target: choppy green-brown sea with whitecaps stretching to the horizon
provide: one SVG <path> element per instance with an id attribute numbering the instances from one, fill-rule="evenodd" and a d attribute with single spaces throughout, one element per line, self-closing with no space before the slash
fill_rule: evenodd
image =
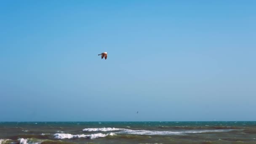
<path id="1" fill-rule="evenodd" d="M 256 144 L 256 122 L 0 122 L 0 144 Z"/>

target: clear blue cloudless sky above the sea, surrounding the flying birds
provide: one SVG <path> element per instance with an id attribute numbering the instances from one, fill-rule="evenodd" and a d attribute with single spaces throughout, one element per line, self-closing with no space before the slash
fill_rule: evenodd
<path id="1" fill-rule="evenodd" d="M 255 0 L 0 1 L 0 121 L 237 121 L 255 110 Z"/>

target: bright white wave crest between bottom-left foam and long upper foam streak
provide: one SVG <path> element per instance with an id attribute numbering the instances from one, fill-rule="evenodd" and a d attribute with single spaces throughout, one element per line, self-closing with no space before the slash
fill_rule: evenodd
<path id="1" fill-rule="evenodd" d="M 103 133 L 96 133 L 96 134 L 77 134 L 77 135 L 72 135 L 69 133 L 55 133 L 54 134 L 54 138 L 56 139 L 75 139 L 75 138 L 89 138 L 89 139 L 96 139 L 96 138 L 101 138 L 101 137 L 105 137 L 105 136 L 113 136 L 115 135 L 115 133 L 107 133 L 107 134 L 103 134 Z"/>

